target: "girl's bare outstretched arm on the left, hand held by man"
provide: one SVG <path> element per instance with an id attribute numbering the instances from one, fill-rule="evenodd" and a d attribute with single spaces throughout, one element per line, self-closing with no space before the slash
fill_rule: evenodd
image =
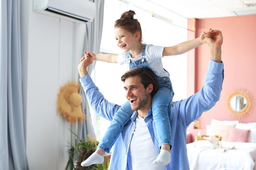
<path id="1" fill-rule="evenodd" d="M 98 60 L 102 62 L 117 63 L 117 56 L 115 54 L 95 54 L 92 52 L 84 52 L 86 57 L 90 57 L 90 60 Z"/>

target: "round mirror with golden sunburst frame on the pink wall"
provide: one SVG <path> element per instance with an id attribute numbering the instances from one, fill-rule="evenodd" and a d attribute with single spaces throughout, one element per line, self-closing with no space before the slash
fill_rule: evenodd
<path id="1" fill-rule="evenodd" d="M 252 98 L 247 91 L 235 90 L 228 96 L 227 108 L 237 117 L 246 115 L 252 108 Z"/>

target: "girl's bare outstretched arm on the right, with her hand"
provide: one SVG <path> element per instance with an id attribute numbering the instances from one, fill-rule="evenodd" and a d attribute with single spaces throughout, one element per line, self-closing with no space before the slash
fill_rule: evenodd
<path id="1" fill-rule="evenodd" d="M 211 37 L 211 32 L 210 31 L 208 31 L 207 33 L 202 32 L 200 37 L 195 38 L 194 40 L 182 42 L 175 46 L 164 47 L 163 57 L 169 56 L 169 55 L 180 55 L 180 54 L 186 53 L 194 49 L 195 47 L 198 47 L 206 43 L 205 36 L 207 36 L 208 38 Z"/>

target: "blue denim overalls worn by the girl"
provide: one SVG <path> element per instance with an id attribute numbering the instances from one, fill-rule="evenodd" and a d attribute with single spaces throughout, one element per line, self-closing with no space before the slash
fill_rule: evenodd
<path id="1" fill-rule="evenodd" d="M 129 67 L 137 68 L 137 67 L 147 67 L 148 62 L 146 61 L 146 44 L 142 47 L 141 56 L 142 59 L 138 61 L 129 60 Z M 127 57 L 130 57 L 130 52 L 127 52 Z M 150 68 L 151 69 L 151 68 Z M 158 91 L 155 93 L 152 99 L 152 113 L 156 126 L 158 143 L 159 147 L 162 144 L 171 145 L 171 126 L 169 121 L 169 104 L 173 99 L 173 88 L 171 84 L 170 77 L 159 77 L 154 73 L 157 84 Z M 104 137 L 101 139 L 98 148 L 105 152 L 110 152 L 110 149 L 114 145 L 118 135 L 123 130 L 124 125 L 130 120 L 132 113 L 134 111 L 131 110 L 130 103 L 127 101 L 118 111 L 115 113 L 108 130 L 106 131 Z"/>

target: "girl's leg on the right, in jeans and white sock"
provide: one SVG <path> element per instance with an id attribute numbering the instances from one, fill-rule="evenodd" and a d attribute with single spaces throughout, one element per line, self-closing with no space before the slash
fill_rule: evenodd
<path id="1" fill-rule="evenodd" d="M 170 89 L 160 88 L 152 100 L 153 118 L 159 140 L 160 153 L 154 163 L 167 165 L 171 161 L 171 124 L 169 120 L 169 104 L 172 101 Z"/>

